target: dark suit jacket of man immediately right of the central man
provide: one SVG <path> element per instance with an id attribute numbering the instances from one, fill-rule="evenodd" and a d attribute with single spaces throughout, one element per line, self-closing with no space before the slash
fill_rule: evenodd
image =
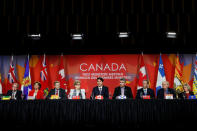
<path id="1" fill-rule="evenodd" d="M 121 87 L 116 87 L 114 90 L 113 99 L 116 99 L 116 97 L 120 95 L 121 95 Z M 127 97 L 127 99 L 133 98 L 133 94 L 130 87 L 125 86 L 124 95 Z"/>

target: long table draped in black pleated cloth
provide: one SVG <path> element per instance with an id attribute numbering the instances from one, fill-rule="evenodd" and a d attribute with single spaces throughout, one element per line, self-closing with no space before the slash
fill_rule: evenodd
<path id="1" fill-rule="evenodd" d="M 185 127 L 196 124 L 197 100 L 0 101 L 1 124 L 12 127 Z"/>

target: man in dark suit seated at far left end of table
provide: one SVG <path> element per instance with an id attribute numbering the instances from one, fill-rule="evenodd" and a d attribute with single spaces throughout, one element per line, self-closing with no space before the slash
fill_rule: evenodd
<path id="1" fill-rule="evenodd" d="M 8 90 L 6 96 L 10 96 L 12 100 L 21 100 L 22 99 L 22 91 L 18 90 L 18 83 L 12 84 L 12 90 Z"/>

